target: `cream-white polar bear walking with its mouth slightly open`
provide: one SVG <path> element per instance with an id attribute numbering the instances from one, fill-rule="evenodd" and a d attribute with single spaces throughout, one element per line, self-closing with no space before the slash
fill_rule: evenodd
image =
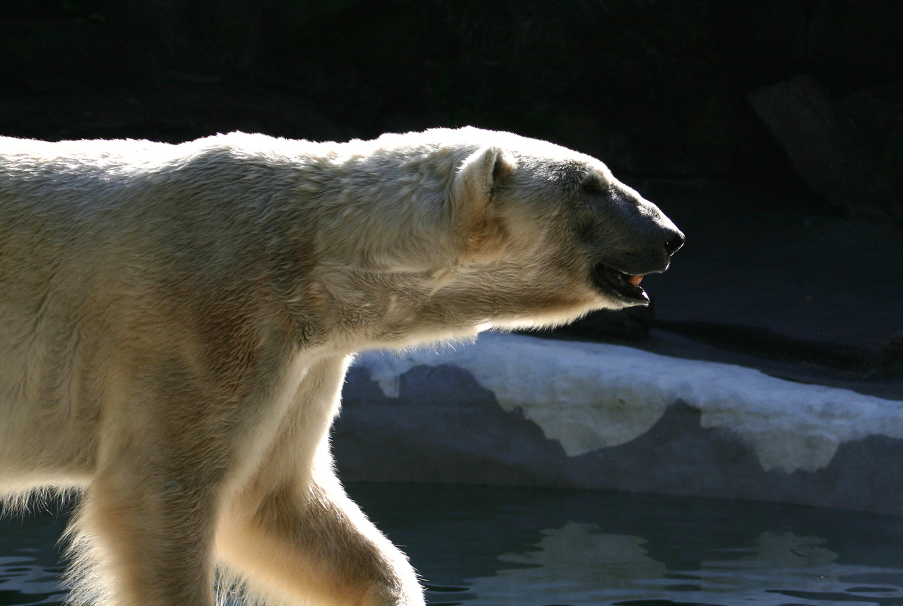
<path id="1" fill-rule="evenodd" d="M 84 491 L 85 601 L 423 604 L 329 429 L 355 352 L 647 303 L 684 235 L 604 164 L 474 128 L 0 139 L 0 486 Z"/>

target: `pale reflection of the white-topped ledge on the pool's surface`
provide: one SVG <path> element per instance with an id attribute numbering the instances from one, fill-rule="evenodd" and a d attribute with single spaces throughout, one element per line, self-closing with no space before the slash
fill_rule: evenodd
<path id="1" fill-rule="evenodd" d="M 797 537 L 792 532 L 764 532 L 755 547 L 712 549 L 714 555 L 720 553 L 725 559 L 704 561 L 692 574 L 669 574 L 664 563 L 648 556 L 641 537 L 603 534 L 595 525 L 573 522 L 544 534 L 535 551 L 498 557 L 505 563 L 534 567 L 503 568 L 489 577 L 467 579 L 470 592 L 478 596 L 468 605 L 691 602 L 778 606 L 787 603 L 787 595 L 804 598 L 798 601 L 801 604 L 821 604 L 859 601 L 856 593 L 895 595 L 897 603 L 903 603 L 903 592 L 898 594 L 897 587 L 863 588 L 840 580 L 845 575 L 900 571 L 835 565 L 838 554 L 820 545 L 824 539 Z M 815 592 L 821 593 L 815 601 L 806 599 Z"/>

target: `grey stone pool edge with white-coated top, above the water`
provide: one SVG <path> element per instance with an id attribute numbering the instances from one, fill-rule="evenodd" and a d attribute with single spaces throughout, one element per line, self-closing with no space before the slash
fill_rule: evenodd
<path id="1" fill-rule="evenodd" d="M 560 486 L 903 515 L 903 401 L 612 344 L 481 335 L 362 353 L 352 480 Z"/>

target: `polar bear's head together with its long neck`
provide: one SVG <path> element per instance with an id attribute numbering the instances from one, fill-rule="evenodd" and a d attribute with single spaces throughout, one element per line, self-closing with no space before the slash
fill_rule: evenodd
<path id="1" fill-rule="evenodd" d="M 327 160 L 317 276 L 379 344 L 646 305 L 639 281 L 684 243 L 602 162 L 512 133 L 386 134 Z"/>

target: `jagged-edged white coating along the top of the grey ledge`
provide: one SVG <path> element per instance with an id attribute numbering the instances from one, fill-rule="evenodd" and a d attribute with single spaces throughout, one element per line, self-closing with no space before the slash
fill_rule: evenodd
<path id="1" fill-rule="evenodd" d="M 442 364 L 470 372 L 508 412 L 522 409 L 569 456 L 642 436 L 677 400 L 702 411 L 703 427 L 739 435 L 766 471 L 813 472 L 844 442 L 903 438 L 903 401 L 619 345 L 489 333 L 473 344 L 370 352 L 357 361 L 392 398 L 402 374 Z"/>

